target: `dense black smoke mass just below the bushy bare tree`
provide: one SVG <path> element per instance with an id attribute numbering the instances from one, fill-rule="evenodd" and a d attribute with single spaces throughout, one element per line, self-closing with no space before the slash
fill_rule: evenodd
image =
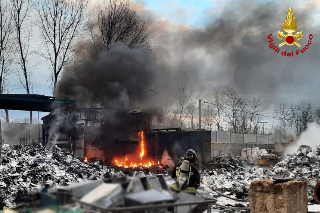
<path id="1" fill-rule="evenodd" d="M 78 61 L 64 70 L 59 97 L 78 101 L 81 107 L 133 109 L 144 106 L 153 95 L 158 66 L 152 54 L 142 49 L 115 45 L 99 52 L 85 46 Z"/>

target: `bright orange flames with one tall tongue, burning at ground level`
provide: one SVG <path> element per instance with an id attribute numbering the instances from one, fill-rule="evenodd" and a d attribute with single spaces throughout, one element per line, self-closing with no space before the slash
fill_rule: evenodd
<path id="1" fill-rule="evenodd" d="M 139 157 L 137 158 L 138 160 L 130 160 L 127 156 L 122 159 L 116 157 L 113 159 L 114 165 L 123 168 L 150 168 L 151 166 L 155 165 L 154 161 L 152 160 L 144 160 L 144 156 L 146 155 L 144 132 L 141 131 L 138 133 L 138 135 L 140 137 L 140 153 Z"/>

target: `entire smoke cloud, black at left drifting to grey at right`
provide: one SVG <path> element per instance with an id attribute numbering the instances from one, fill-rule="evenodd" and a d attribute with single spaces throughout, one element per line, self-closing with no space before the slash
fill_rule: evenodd
<path id="1" fill-rule="evenodd" d="M 292 2 L 291 2 L 292 3 Z M 295 6 L 297 5 L 297 6 Z M 64 70 L 58 95 L 76 99 L 82 106 L 94 103 L 120 108 L 170 107 L 176 100 L 176 85 L 185 83 L 188 91 L 210 98 L 216 86 L 234 87 L 247 96 L 260 95 L 265 103 L 300 100 L 317 101 L 319 30 L 314 25 L 314 9 L 305 4 L 233 2 L 220 17 L 205 27 L 170 30 L 150 11 L 140 11 L 150 22 L 152 51 L 118 45 L 95 54 L 89 45 L 77 62 Z M 281 56 L 269 48 L 282 30 L 292 6 L 298 31 L 314 38 L 310 48 L 299 56 Z M 160 23 L 160 24 L 159 24 Z M 307 95 L 306 95 L 307 94 Z M 158 111 L 158 110 L 156 110 Z"/>

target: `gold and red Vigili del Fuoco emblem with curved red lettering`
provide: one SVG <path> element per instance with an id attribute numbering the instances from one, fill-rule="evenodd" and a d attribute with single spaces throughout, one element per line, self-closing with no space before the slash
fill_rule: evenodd
<path id="1" fill-rule="evenodd" d="M 296 45 L 298 47 L 301 47 L 301 45 L 297 41 L 302 39 L 303 35 L 302 35 L 302 31 L 297 32 L 296 34 L 294 34 L 294 32 L 297 31 L 297 23 L 296 23 L 296 20 L 294 18 L 293 11 L 292 11 L 291 7 L 289 7 L 287 18 L 286 18 L 286 20 L 284 21 L 284 23 L 282 25 L 282 29 L 283 29 L 284 32 L 286 32 L 286 34 L 284 32 L 278 31 L 277 38 L 280 39 L 280 40 L 283 40 L 283 42 L 281 42 L 279 44 L 279 47 L 276 46 L 273 43 L 273 39 L 271 38 L 272 34 L 270 34 L 268 36 L 269 43 L 270 43 L 269 47 L 272 50 L 274 50 L 276 53 L 279 53 L 280 52 L 280 47 L 282 47 L 283 45 L 288 45 L 288 46 Z M 299 50 L 296 50 L 296 51 L 291 51 L 291 52 L 283 51 L 283 52 L 281 52 L 281 55 L 282 56 L 292 57 L 294 55 L 299 55 L 299 53 L 304 53 L 307 49 L 309 49 L 309 46 L 311 44 L 312 38 L 313 38 L 313 35 L 310 34 L 309 35 L 308 44 L 306 44 L 302 49 L 299 49 Z"/>

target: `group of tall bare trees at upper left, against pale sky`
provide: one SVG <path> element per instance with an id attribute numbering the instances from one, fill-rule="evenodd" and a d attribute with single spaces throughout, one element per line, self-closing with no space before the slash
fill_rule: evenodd
<path id="1" fill-rule="evenodd" d="M 108 51 L 116 42 L 129 48 L 150 47 L 147 24 L 128 0 L 105 0 L 95 10 L 88 0 L 8 0 L 0 1 L 0 93 L 9 93 L 15 74 L 26 94 L 32 94 L 33 54 L 48 62 L 53 95 L 63 68 L 74 60 L 75 43 L 82 32 Z M 90 18 L 89 18 L 90 17 Z M 39 31 L 33 35 L 32 27 Z M 41 41 L 35 53 L 31 39 Z M 9 121 L 6 111 L 6 121 Z M 32 123 L 32 112 L 30 112 Z"/>

